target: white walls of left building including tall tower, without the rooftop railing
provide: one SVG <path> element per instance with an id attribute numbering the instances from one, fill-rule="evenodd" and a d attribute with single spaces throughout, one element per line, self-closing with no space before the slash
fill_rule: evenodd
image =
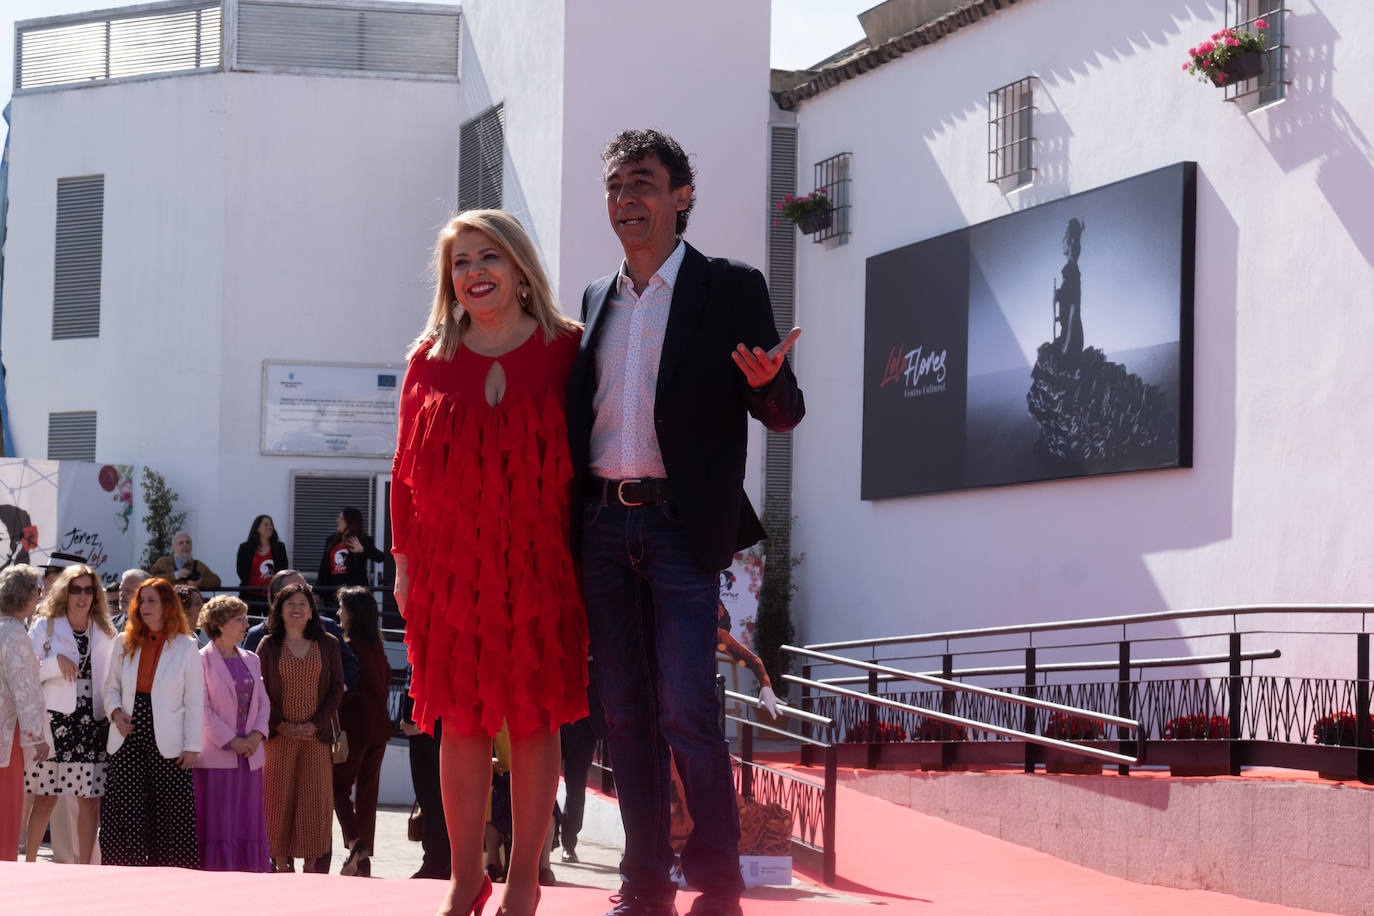
<path id="1" fill-rule="evenodd" d="M 708 0 L 669 23 L 629 0 L 470 0 L 462 22 L 458 85 L 223 73 L 18 96 L 3 341 L 21 455 L 45 455 L 49 412 L 98 411 L 98 457 L 164 472 L 231 584 L 254 515 L 289 533 L 291 471 L 385 472 L 260 455 L 261 365 L 404 360 L 456 206 L 459 126 L 497 102 L 504 206 L 570 313 L 620 260 L 599 151 L 627 126 L 694 155 L 691 240 L 763 266 L 767 4 Z M 607 29 L 632 40 L 611 48 Z M 56 179 L 89 173 L 106 176 L 102 331 L 52 341 Z"/>

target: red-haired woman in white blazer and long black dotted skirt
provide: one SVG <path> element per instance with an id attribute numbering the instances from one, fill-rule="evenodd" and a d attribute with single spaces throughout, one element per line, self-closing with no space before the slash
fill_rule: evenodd
<path id="1" fill-rule="evenodd" d="M 191 768 L 205 742 L 205 673 L 166 580 L 139 586 L 104 681 L 110 766 L 100 806 L 106 865 L 198 868 Z"/>

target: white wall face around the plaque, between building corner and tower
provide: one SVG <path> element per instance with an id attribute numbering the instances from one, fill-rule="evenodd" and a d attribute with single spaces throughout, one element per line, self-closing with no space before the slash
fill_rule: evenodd
<path id="1" fill-rule="evenodd" d="M 261 455 L 262 361 L 404 365 L 433 302 L 434 236 L 456 206 L 462 107 L 452 82 L 227 78 L 218 467 L 187 489 L 220 508 L 199 522 L 198 549 L 236 582 L 256 515 L 290 536 L 291 471 L 390 471 L 390 459 Z M 319 566 L 289 548 L 295 567 Z"/>

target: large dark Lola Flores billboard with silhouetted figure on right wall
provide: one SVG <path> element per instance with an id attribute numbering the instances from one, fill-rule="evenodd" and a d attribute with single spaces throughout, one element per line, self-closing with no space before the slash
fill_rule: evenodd
<path id="1" fill-rule="evenodd" d="M 861 497 L 1193 466 L 1197 166 L 868 258 Z"/>

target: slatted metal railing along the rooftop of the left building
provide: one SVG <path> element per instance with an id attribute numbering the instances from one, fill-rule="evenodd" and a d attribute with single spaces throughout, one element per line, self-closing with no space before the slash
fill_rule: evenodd
<path id="1" fill-rule="evenodd" d="M 376 0 L 172 0 L 26 19 L 15 93 L 225 70 L 447 80 L 459 11 Z"/>

